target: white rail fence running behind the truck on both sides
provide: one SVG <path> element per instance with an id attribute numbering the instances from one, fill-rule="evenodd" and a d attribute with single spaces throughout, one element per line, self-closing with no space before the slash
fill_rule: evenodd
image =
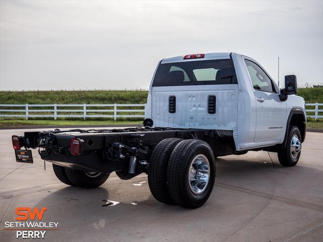
<path id="1" fill-rule="evenodd" d="M 306 103 L 305 106 L 310 106 L 311 109 L 306 109 L 306 112 L 313 112 L 314 115 L 308 115 L 307 117 L 315 118 L 317 121 L 318 118 L 323 118 L 323 115 L 318 115 L 319 112 L 323 112 L 323 103 Z M 319 109 L 321 106 L 321 109 Z M 87 117 L 114 117 L 117 120 L 118 117 L 144 117 L 145 115 L 137 114 L 118 114 L 124 112 L 139 112 L 145 113 L 146 104 L 0 104 L 0 108 L 3 107 L 19 107 L 20 109 L 0 109 L 0 117 L 53 117 L 55 120 L 58 117 L 83 117 L 84 120 Z M 37 109 L 33 108 L 36 107 Z M 46 109 L 39 109 L 39 107 L 46 107 Z M 78 109 L 61 109 L 61 107 L 78 107 Z M 103 107 L 105 109 L 92 109 L 87 107 Z M 106 107 L 110 107 L 106 109 Z M 113 107 L 113 108 L 111 108 Z M 142 109 L 120 109 L 120 107 L 142 107 Z M 314 108 L 313 108 L 314 107 Z M 8 114 L 15 112 L 15 114 Z M 39 112 L 49 112 L 51 114 L 30 114 L 30 113 L 39 113 Z M 59 114 L 62 112 L 76 112 L 81 114 Z M 110 114 L 89 114 L 89 113 L 110 113 Z M 5 114 L 4 114 L 5 113 Z M 20 113 L 20 114 L 17 114 Z M 24 114 L 22 114 L 24 113 Z"/>

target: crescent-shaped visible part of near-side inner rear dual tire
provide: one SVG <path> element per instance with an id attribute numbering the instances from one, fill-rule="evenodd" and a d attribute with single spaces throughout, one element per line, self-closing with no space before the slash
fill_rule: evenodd
<path id="1" fill-rule="evenodd" d="M 153 150 L 148 166 L 148 184 L 152 196 L 161 203 L 174 204 L 166 184 L 166 169 L 170 155 L 182 139 L 162 140 Z"/>

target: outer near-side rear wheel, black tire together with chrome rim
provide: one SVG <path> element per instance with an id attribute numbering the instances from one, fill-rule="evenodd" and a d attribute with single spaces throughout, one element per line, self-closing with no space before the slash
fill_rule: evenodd
<path id="1" fill-rule="evenodd" d="M 167 186 L 173 201 L 187 208 L 202 206 L 210 196 L 216 167 L 213 152 L 201 140 L 184 140 L 167 164 Z"/>

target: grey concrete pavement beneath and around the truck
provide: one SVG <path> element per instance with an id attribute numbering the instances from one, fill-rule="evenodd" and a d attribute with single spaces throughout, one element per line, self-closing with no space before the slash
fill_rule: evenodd
<path id="1" fill-rule="evenodd" d="M 59 222 L 44 241 L 322 241 L 323 133 L 307 133 L 295 167 L 262 151 L 218 158 L 213 192 L 194 210 L 157 202 L 145 174 L 112 174 L 93 190 L 64 185 L 35 150 L 34 164 L 15 161 L 11 135 L 22 133 L 0 131 L 1 241 L 17 240 L 3 230 L 17 207 L 47 207 L 42 221 Z"/>

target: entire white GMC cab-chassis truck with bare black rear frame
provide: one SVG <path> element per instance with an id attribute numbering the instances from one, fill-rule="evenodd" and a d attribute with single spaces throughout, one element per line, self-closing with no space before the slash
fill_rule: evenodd
<path id="1" fill-rule="evenodd" d="M 306 133 L 296 93 L 296 76 L 280 89 L 241 54 L 169 57 L 153 75 L 142 127 L 26 132 L 12 142 L 18 162 L 32 163 L 29 148 L 38 148 L 67 185 L 95 188 L 113 171 L 121 179 L 145 172 L 156 200 L 197 208 L 213 189 L 218 156 L 265 150 L 296 165 Z"/>

